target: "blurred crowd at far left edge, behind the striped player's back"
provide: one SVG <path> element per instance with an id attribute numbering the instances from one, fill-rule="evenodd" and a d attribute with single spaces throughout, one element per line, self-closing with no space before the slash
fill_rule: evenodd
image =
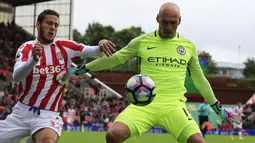
<path id="1" fill-rule="evenodd" d="M 15 22 L 0 22 L 0 119 L 11 113 L 17 102 L 17 83 L 12 81 L 14 57 L 17 48 L 32 39 Z"/>

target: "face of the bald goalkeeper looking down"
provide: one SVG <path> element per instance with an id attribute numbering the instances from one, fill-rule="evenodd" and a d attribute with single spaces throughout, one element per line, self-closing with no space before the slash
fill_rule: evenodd
<path id="1" fill-rule="evenodd" d="M 164 12 L 158 14 L 157 22 L 159 24 L 160 37 L 164 39 L 173 38 L 181 22 L 181 17 L 177 14 Z"/>

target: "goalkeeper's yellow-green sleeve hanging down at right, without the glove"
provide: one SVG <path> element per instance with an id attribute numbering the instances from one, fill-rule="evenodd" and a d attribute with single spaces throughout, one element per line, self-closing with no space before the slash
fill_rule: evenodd
<path id="1" fill-rule="evenodd" d="M 207 102 L 212 105 L 217 99 L 214 96 L 213 90 L 210 83 L 205 78 L 202 68 L 199 64 L 197 49 L 194 44 L 192 44 L 192 56 L 189 61 L 189 70 L 191 78 L 202 96 L 207 100 Z"/>

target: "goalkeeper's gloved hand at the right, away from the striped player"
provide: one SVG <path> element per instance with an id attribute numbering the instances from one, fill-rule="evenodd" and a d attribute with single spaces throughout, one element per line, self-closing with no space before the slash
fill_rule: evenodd
<path id="1" fill-rule="evenodd" d="M 226 111 L 220 104 L 219 101 L 217 101 L 215 104 L 211 105 L 214 112 L 220 116 L 220 118 L 223 120 L 223 122 L 228 123 L 230 125 L 235 122 L 236 124 L 241 124 L 241 118 L 238 115 L 235 115 L 231 112 Z"/>

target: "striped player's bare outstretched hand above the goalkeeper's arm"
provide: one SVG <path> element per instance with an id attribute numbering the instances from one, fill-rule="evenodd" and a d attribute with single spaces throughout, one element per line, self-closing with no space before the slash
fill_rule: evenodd
<path id="1" fill-rule="evenodd" d="M 100 40 L 98 42 L 99 48 L 100 48 L 100 52 L 103 52 L 106 56 L 112 56 L 112 53 L 115 52 L 115 47 L 116 45 L 110 41 L 110 40 Z"/>

